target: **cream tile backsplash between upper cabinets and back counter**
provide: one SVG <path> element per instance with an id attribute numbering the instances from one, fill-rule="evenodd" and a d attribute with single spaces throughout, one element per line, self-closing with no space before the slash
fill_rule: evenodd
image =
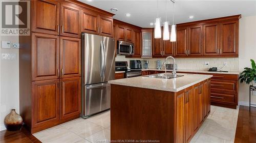
<path id="1" fill-rule="evenodd" d="M 117 55 L 116 61 L 128 61 L 130 67 L 130 60 L 148 60 L 148 68 L 156 68 L 156 61 L 160 60 L 164 63 L 164 58 L 154 59 L 140 59 L 140 58 L 125 58 L 124 55 Z M 239 71 L 239 58 L 176 58 L 178 69 L 180 70 L 208 70 L 211 67 L 223 67 L 221 70 L 224 71 Z M 167 64 L 173 63 L 171 59 L 167 60 Z M 209 63 L 209 65 L 205 65 Z M 162 68 L 164 68 L 162 66 Z"/>

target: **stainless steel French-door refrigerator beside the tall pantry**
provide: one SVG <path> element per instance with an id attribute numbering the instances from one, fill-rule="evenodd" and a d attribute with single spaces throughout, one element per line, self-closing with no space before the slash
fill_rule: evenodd
<path id="1" fill-rule="evenodd" d="M 115 79 L 115 39 L 82 34 L 82 118 L 110 109 Z"/>

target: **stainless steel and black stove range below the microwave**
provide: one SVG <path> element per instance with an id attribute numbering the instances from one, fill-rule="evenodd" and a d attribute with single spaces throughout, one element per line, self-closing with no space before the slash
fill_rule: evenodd
<path id="1" fill-rule="evenodd" d="M 126 61 L 116 62 L 116 71 L 125 71 L 125 78 L 141 76 L 141 69 L 128 69 Z"/>

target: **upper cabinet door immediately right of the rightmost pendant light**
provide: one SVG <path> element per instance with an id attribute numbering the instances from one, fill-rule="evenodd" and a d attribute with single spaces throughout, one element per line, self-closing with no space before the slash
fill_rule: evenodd
<path id="1" fill-rule="evenodd" d="M 176 56 L 187 56 L 187 27 L 177 27 Z"/>

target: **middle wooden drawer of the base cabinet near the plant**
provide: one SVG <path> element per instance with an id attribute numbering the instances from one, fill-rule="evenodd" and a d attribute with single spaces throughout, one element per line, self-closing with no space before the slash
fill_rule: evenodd
<path id="1" fill-rule="evenodd" d="M 225 91 L 237 93 L 237 81 L 232 80 L 211 80 L 210 88 L 212 91 Z"/>

